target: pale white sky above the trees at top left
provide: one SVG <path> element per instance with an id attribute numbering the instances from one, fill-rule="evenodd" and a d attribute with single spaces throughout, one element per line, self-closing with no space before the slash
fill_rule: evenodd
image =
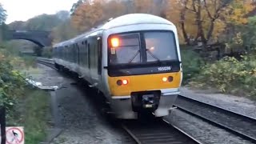
<path id="1" fill-rule="evenodd" d="M 6 24 L 26 21 L 40 14 L 55 14 L 59 10 L 70 10 L 78 0 L 0 0 L 7 11 Z"/>

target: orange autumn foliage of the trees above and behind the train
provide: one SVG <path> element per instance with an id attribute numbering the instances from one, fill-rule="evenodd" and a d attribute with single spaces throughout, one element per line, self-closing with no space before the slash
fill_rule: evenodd
<path id="1" fill-rule="evenodd" d="M 251 0 L 80 0 L 71 22 L 86 31 L 122 14 L 155 14 L 178 26 L 181 42 L 206 45 L 218 41 L 230 24 L 246 24 L 246 14 L 254 8 Z"/>

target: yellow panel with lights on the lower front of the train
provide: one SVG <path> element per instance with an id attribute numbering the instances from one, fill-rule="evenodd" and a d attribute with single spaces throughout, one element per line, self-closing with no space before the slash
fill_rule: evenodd
<path id="1" fill-rule="evenodd" d="M 168 82 L 168 78 L 173 78 L 171 82 Z M 164 82 L 163 78 L 167 78 Z M 118 86 L 118 80 L 125 79 L 128 84 L 124 86 Z M 109 85 L 111 96 L 122 97 L 130 96 L 135 91 L 148 91 L 148 90 L 161 90 L 162 94 L 168 93 L 168 90 L 178 92 L 180 87 L 181 73 L 164 73 L 164 74 L 144 74 L 133 75 L 126 77 L 109 77 Z"/>

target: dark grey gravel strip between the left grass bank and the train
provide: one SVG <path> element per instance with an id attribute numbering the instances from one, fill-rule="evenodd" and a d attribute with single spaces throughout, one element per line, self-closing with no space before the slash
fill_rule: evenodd
<path id="1" fill-rule="evenodd" d="M 61 86 L 60 90 L 51 92 L 54 125 L 61 129 L 51 144 L 125 143 L 122 141 L 127 135 L 102 118 L 100 110 L 89 97 L 94 95 L 86 95 L 85 91 L 73 85 L 74 80 L 63 77 L 56 70 L 41 64 L 38 68 L 40 73 L 32 75 L 36 82 L 42 82 L 43 86 Z"/>

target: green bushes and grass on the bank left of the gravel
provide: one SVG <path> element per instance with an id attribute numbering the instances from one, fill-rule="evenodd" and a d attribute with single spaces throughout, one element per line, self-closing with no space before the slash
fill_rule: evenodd
<path id="1" fill-rule="evenodd" d="M 46 138 L 50 96 L 26 83 L 22 70 L 34 69 L 34 58 L 22 58 L 0 46 L 0 106 L 6 107 L 6 126 L 24 126 L 25 142 L 39 143 Z"/>

